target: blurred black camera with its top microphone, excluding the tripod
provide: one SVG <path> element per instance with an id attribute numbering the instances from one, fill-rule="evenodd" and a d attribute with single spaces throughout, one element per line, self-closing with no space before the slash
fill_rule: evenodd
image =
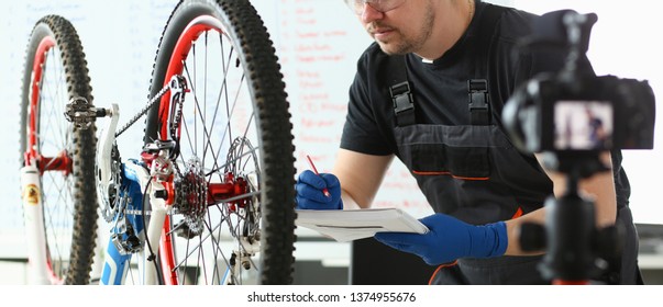
<path id="1" fill-rule="evenodd" d="M 596 20 L 593 13 L 565 10 L 543 15 L 533 25 L 523 47 L 555 46 L 566 59 L 560 71 L 537 75 L 507 101 L 502 122 L 519 149 L 653 148 L 655 99 L 648 81 L 598 77 L 583 65 Z"/>

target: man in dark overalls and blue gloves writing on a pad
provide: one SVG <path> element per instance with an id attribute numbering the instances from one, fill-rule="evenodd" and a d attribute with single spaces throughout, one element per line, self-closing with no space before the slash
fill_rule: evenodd
<path id="1" fill-rule="evenodd" d="M 541 252 L 523 251 L 518 231 L 523 223 L 544 223 L 543 202 L 564 192 L 565 178 L 518 151 L 500 121 L 520 83 L 564 61 L 512 56 L 538 16 L 480 0 L 346 2 L 375 43 L 358 60 L 333 174 L 302 172 L 298 207 L 369 207 L 396 156 L 437 214 L 421 219 L 426 235 L 382 232 L 378 241 L 440 265 L 435 284 L 550 283 L 537 270 Z M 637 283 L 621 156 L 603 158 L 614 172 L 581 189 L 594 197 L 597 227 L 618 220 L 628 230 L 620 273 L 605 282 Z"/>

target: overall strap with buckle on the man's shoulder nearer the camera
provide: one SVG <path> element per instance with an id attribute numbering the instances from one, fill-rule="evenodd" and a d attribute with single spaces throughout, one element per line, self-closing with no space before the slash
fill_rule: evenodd
<path id="1" fill-rule="evenodd" d="M 490 55 L 491 45 L 494 42 L 493 34 L 497 29 L 497 22 L 506 8 L 486 3 L 482 12 L 482 22 L 478 26 L 476 35 L 475 58 L 477 65 L 475 69 L 475 78 L 467 80 L 467 94 L 469 99 L 469 120 L 472 125 L 490 125 L 490 94 L 488 92 L 488 57 Z"/>

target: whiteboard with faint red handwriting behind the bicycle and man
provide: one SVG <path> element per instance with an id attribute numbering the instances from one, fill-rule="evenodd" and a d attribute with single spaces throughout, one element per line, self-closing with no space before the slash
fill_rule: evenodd
<path id="1" fill-rule="evenodd" d="M 0 177 L 0 195 L 4 200 L 0 203 L 0 258 L 24 257 L 25 252 L 22 243 L 24 237 L 19 193 L 19 121 L 16 118 L 23 53 L 34 23 L 41 16 L 51 13 L 60 14 L 71 21 L 87 55 L 95 103 L 97 105 L 118 103 L 123 116 L 129 116 L 146 101 L 156 46 L 176 2 L 163 0 L 1 1 L 0 42 L 3 43 L 0 46 L 0 68 L 3 73 L 0 75 L 0 101 L 2 102 L 0 112 L 5 115 L 4 121 L 0 121 L 0 128 L 4 132 L 5 150 L 0 151 L 0 167 L 5 171 Z M 615 7 L 615 4 L 604 4 L 611 1 L 598 3 L 596 0 L 489 2 L 513 4 L 539 13 L 562 8 L 578 8 L 581 11 L 587 11 L 589 8 Z M 252 0 L 252 3 L 265 21 L 283 67 L 281 72 L 285 76 L 292 113 L 296 168 L 298 172 L 308 169 L 306 155 L 310 155 L 316 160 L 319 171 L 330 171 L 339 148 L 345 120 L 347 89 L 354 77 L 356 59 L 371 39 L 356 16 L 341 0 Z M 654 10 L 640 10 L 640 13 L 651 14 L 650 18 L 642 20 L 659 23 L 658 29 L 663 27 L 660 24 L 663 22 L 655 18 Z M 625 24 L 619 20 L 619 16 L 625 15 L 636 14 L 630 14 L 623 9 L 599 11 L 599 24 L 593 32 L 590 59 L 599 72 L 647 78 L 652 80 L 652 87 L 658 90 L 656 86 L 661 84 L 658 76 L 662 71 L 660 65 L 614 60 L 618 55 L 636 50 L 639 52 L 639 57 L 656 58 L 654 52 L 660 50 L 651 45 L 655 44 L 656 39 L 651 37 L 638 39 L 637 35 L 631 35 L 639 33 L 636 26 L 642 25 L 642 22 Z M 656 27 L 656 25 L 651 26 Z M 630 46 L 619 46 L 615 37 L 628 41 Z M 608 47 L 599 48 L 601 44 Z M 660 90 L 656 93 L 660 96 Z M 658 117 L 661 118 L 661 115 Z M 121 117 L 120 124 L 125 121 L 126 117 Z M 658 147 L 663 146 L 660 126 L 656 135 Z M 142 135 L 123 135 L 120 139 L 123 158 L 128 158 L 129 152 L 139 152 L 141 139 Z M 648 180 L 649 173 L 647 173 L 652 169 L 663 170 L 660 151 L 661 149 L 658 148 L 656 151 L 627 152 L 625 166 L 633 184 L 632 207 L 636 219 L 640 221 L 663 223 L 662 204 L 653 202 L 656 200 L 654 181 Z M 649 164 L 650 162 L 652 164 Z M 375 206 L 400 207 L 416 217 L 431 213 L 416 181 L 399 161 L 395 161 L 389 169 L 375 200 Z"/>

